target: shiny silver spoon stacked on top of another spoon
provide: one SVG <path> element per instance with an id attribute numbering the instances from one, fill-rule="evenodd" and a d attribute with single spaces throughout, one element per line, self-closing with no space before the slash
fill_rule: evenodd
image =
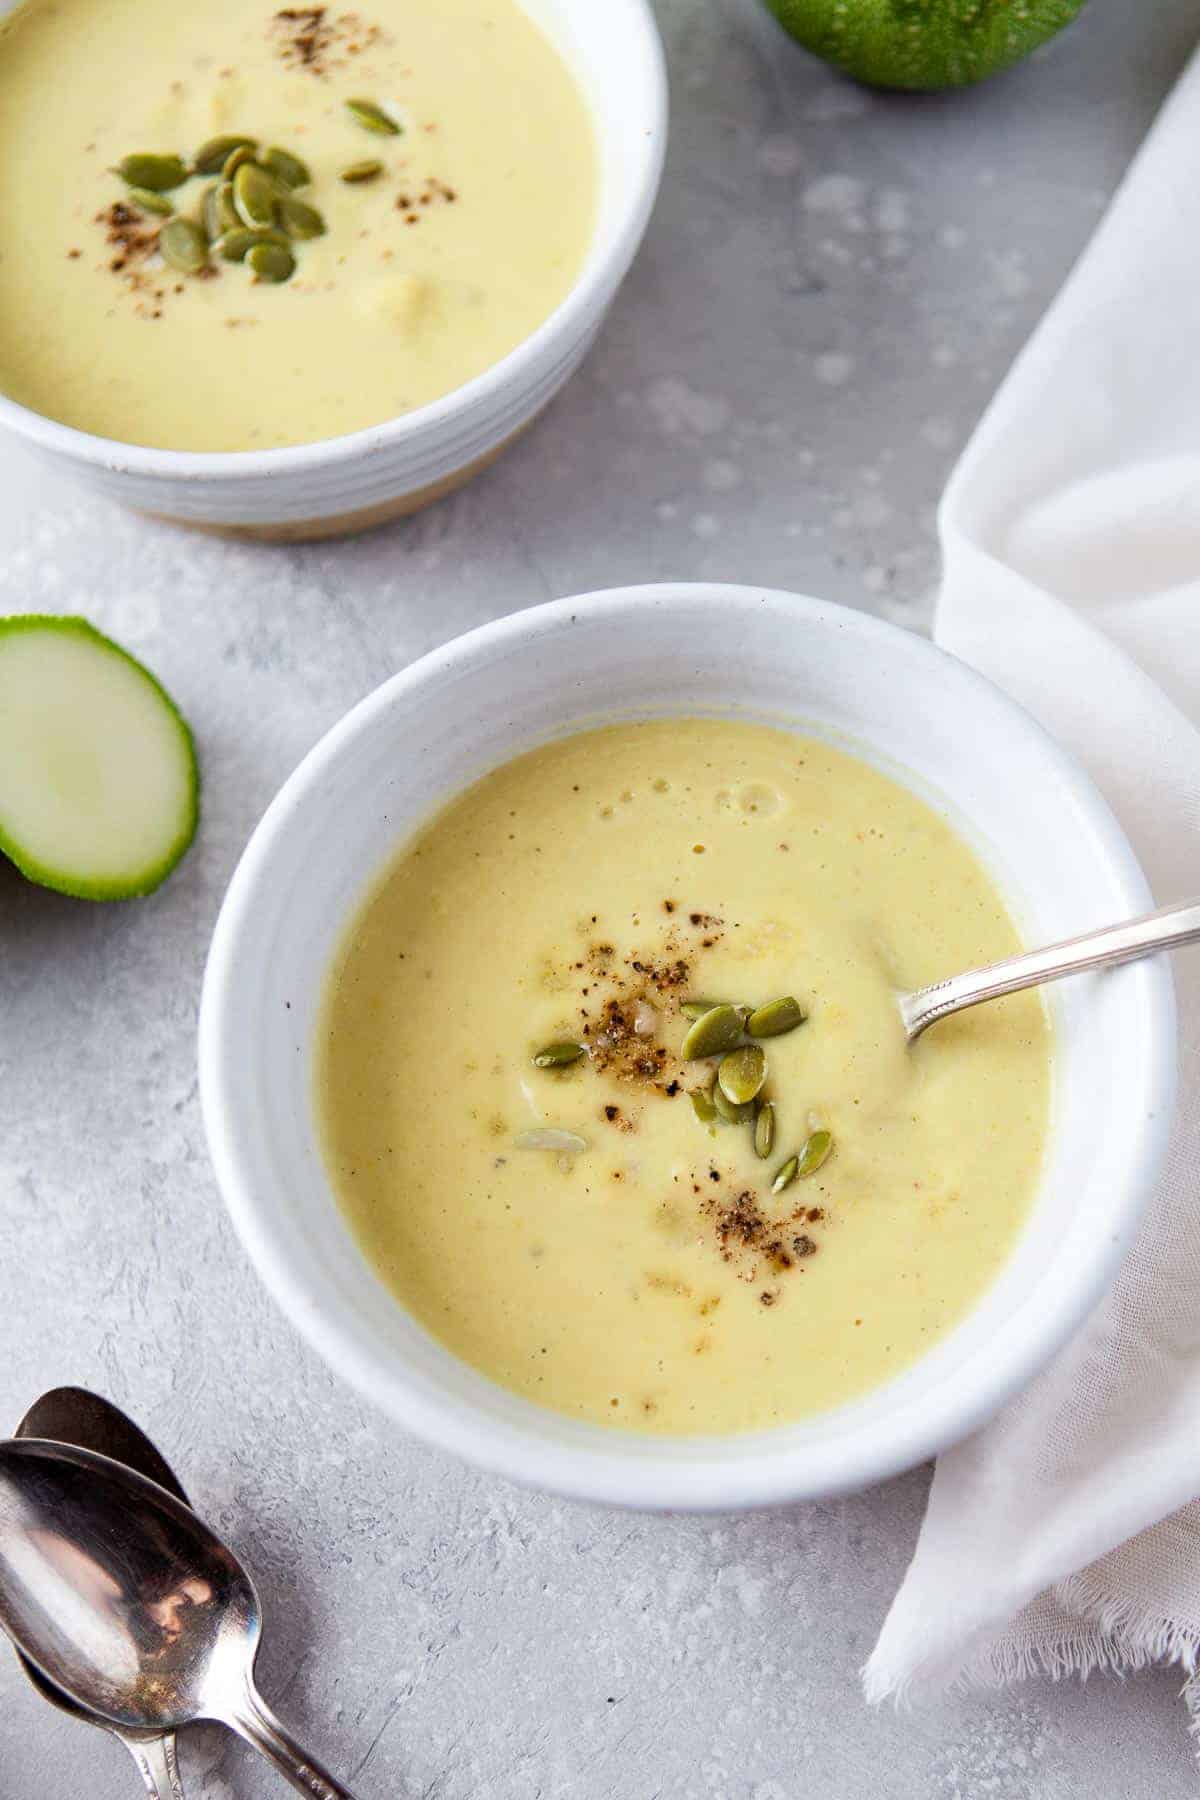
<path id="1" fill-rule="evenodd" d="M 108 1456 L 0 1442 L 0 1625 L 122 1732 L 216 1719 L 309 1800 L 354 1800 L 255 1692 L 259 1597 L 232 1550 Z"/>

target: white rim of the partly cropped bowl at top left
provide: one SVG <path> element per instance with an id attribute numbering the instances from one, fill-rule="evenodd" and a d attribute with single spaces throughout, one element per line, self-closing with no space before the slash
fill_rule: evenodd
<path id="1" fill-rule="evenodd" d="M 414 445 L 437 441 L 452 421 L 471 412 L 486 412 L 507 389 L 520 389 L 525 380 L 536 374 L 538 365 L 554 355 L 560 344 L 576 344 L 587 335 L 590 322 L 599 319 L 637 256 L 662 180 L 669 95 L 666 52 L 651 4 L 649 0 L 606 0 L 606 5 L 610 11 L 624 9 L 630 40 L 639 45 L 644 63 L 651 97 L 642 133 L 644 155 L 624 196 L 619 223 L 603 254 L 596 254 L 594 241 L 579 275 L 554 311 L 547 313 L 542 324 L 498 362 L 439 400 L 414 407 L 412 412 L 399 412 L 378 425 L 365 425 L 336 437 L 318 437 L 313 443 L 282 445 L 273 450 L 160 450 L 151 445 L 130 445 L 117 437 L 101 437 L 76 425 L 65 425 L 20 400 L 11 400 L 2 391 L 0 428 L 11 430 L 36 450 L 122 475 L 178 482 L 241 482 L 336 468 L 356 457 L 378 455 L 405 441 Z M 13 9 L 0 5 L 0 22 Z"/>

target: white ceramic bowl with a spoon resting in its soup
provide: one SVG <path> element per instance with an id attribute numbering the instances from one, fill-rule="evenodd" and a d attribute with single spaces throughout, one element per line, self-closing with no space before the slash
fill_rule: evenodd
<path id="1" fill-rule="evenodd" d="M 205 976 L 200 1084 L 227 1204 L 306 1337 L 410 1431 L 558 1492 L 716 1508 L 894 1474 L 979 1426 L 1112 1278 L 1166 1145 L 1166 959 L 1047 988 L 1052 1130 L 1029 1224 L 973 1312 L 862 1400 L 739 1438 L 578 1424 L 466 1368 L 392 1300 L 333 1201 L 311 1053 L 340 932 L 394 848 L 448 796 L 547 738 L 615 718 L 790 722 L 894 772 L 977 846 L 1031 941 L 1150 904 L 1087 776 L 1020 707 L 919 637 L 815 599 L 644 587 L 471 632 L 385 682 L 286 783 L 234 875 Z"/>

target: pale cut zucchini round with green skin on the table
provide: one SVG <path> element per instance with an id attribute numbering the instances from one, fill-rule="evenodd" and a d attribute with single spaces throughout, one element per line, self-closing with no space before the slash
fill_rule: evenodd
<path id="1" fill-rule="evenodd" d="M 149 670 L 86 619 L 0 619 L 0 851 L 83 900 L 153 893 L 200 810 L 196 747 Z"/>

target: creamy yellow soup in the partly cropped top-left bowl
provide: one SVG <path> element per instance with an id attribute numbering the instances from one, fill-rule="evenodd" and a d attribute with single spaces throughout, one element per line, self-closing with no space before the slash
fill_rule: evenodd
<path id="1" fill-rule="evenodd" d="M 399 130 L 358 122 L 363 97 Z M 113 173 L 239 133 L 311 173 L 326 232 L 282 283 L 166 266 L 164 218 Z M 166 198 L 198 218 L 209 180 Z M 171 450 L 380 423 L 542 324 L 596 189 L 585 99 L 516 0 L 27 0 L 0 22 L 0 391 Z"/>

